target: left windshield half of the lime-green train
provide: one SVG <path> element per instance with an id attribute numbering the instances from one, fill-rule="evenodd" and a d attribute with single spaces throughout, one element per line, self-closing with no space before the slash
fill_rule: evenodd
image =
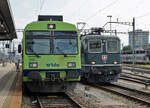
<path id="1" fill-rule="evenodd" d="M 50 54 L 49 32 L 26 32 L 27 54 Z"/>

